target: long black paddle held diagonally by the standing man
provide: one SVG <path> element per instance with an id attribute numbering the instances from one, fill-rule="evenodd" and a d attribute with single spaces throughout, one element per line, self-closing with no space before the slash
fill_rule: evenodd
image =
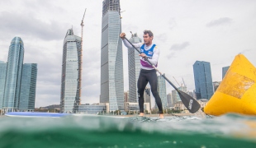
<path id="1" fill-rule="evenodd" d="M 125 37 L 125 39 L 126 39 L 126 37 Z M 126 40 L 129 42 L 130 45 L 132 45 L 132 47 L 133 47 L 134 49 L 136 49 L 135 46 L 130 43 L 130 40 L 128 40 L 128 39 L 126 39 Z M 141 52 L 140 52 L 139 49 L 136 49 L 136 50 L 137 50 L 137 52 L 139 52 L 139 53 L 141 54 Z M 149 62 L 149 64 L 150 64 L 152 67 L 154 67 L 154 69 L 155 69 L 157 72 L 159 72 L 159 70 L 148 60 L 148 58 L 145 58 L 145 60 L 146 60 L 147 62 Z M 179 97 L 182 99 L 183 104 L 185 105 L 185 107 L 187 108 L 187 110 L 188 110 L 190 113 L 196 113 L 197 110 L 200 109 L 201 106 L 200 106 L 200 104 L 197 102 L 196 99 L 192 98 L 192 96 L 188 95 L 187 93 L 183 92 L 182 90 L 178 90 L 178 88 L 177 88 L 176 86 L 174 86 L 173 83 L 172 83 L 171 81 L 169 81 L 166 76 L 162 75 L 161 72 L 159 72 L 159 74 L 160 74 L 161 76 L 163 76 L 164 79 L 165 79 L 166 81 L 168 81 L 168 83 L 169 83 L 171 86 L 173 86 L 173 88 L 174 88 L 175 90 L 178 91 Z"/>

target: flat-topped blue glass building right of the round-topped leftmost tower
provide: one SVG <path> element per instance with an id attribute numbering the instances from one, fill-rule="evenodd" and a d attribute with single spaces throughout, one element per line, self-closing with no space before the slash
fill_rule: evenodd
<path id="1" fill-rule="evenodd" d="M 20 111 L 35 110 L 37 64 L 24 63 L 21 76 Z"/>

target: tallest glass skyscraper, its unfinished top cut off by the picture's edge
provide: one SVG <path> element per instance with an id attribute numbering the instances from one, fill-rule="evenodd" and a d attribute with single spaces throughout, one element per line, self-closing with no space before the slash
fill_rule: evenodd
<path id="1" fill-rule="evenodd" d="M 124 110 L 120 1 L 102 2 L 101 98 L 110 111 Z"/>

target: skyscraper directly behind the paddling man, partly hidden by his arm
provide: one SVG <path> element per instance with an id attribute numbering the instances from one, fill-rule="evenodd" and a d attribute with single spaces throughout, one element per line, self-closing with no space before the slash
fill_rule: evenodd
<path id="1" fill-rule="evenodd" d="M 130 43 L 141 43 L 137 34 L 132 35 Z M 128 49 L 129 102 L 138 102 L 137 81 L 140 75 L 140 56 L 135 49 Z M 149 92 L 150 94 L 150 92 Z"/>

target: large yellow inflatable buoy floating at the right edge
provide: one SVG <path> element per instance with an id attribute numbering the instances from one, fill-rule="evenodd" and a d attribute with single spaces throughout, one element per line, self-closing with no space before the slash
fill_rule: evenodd
<path id="1" fill-rule="evenodd" d="M 256 115 L 256 68 L 243 54 L 235 56 L 220 86 L 204 108 L 211 115 Z"/>

